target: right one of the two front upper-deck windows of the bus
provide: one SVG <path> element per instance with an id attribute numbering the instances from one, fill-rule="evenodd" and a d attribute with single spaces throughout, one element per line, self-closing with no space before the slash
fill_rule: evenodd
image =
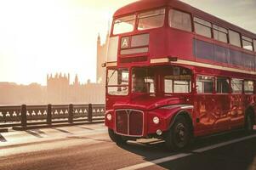
<path id="1" fill-rule="evenodd" d="M 165 9 L 156 9 L 139 14 L 138 30 L 148 30 L 162 27 L 164 24 Z"/>

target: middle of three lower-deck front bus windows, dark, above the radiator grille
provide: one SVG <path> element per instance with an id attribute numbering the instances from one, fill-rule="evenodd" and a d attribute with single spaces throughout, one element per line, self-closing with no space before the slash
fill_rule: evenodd
<path id="1" fill-rule="evenodd" d="M 149 69 L 134 68 L 132 82 L 133 93 L 155 93 L 155 78 Z"/>

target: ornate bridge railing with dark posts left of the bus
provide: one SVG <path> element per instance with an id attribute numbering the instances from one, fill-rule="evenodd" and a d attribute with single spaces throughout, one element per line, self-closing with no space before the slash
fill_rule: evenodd
<path id="1" fill-rule="evenodd" d="M 0 127 L 103 121 L 104 115 L 103 104 L 0 106 Z"/>

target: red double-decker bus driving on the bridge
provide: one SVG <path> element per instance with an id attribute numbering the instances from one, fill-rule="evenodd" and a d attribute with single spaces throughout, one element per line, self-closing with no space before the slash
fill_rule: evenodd
<path id="1" fill-rule="evenodd" d="M 176 0 L 140 0 L 113 16 L 105 125 L 117 144 L 191 138 L 255 124 L 256 35 Z"/>

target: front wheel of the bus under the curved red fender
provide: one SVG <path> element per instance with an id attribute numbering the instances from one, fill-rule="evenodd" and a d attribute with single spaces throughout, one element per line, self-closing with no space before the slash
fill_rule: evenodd
<path id="1" fill-rule="evenodd" d="M 168 150 L 184 149 L 191 140 L 191 131 L 185 116 L 178 116 L 174 125 L 166 133 L 165 144 Z"/>

